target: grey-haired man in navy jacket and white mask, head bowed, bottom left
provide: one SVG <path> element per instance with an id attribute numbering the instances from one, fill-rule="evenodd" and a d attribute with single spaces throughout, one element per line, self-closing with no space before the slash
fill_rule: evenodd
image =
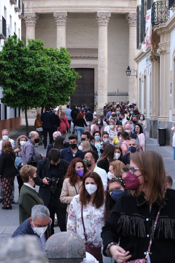
<path id="1" fill-rule="evenodd" d="M 19 235 L 35 235 L 38 237 L 42 250 L 45 250 L 46 241 L 51 236 L 50 212 L 44 205 L 34 205 L 31 217 L 26 219 L 13 233 L 12 237 Z"/>

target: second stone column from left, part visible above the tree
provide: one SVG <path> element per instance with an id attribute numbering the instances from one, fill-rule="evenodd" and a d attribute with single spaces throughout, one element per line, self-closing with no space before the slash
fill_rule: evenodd
<path id="1" fill-rule="evenodd" d="M 66 47 L 67 12 L 53 13 L 57 24 L 57 48 Z"/>

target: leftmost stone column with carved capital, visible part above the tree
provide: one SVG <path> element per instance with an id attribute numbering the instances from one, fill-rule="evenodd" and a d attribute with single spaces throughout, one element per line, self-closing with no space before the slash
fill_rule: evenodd
<path id="1" fill-rule="evenodd" d="M 26 46 L 28 45 L 28 39 L 35 39 L 35 25 L 39 15 L 36 13 L 25 13 L 24 20 L 26 25 Z"/>

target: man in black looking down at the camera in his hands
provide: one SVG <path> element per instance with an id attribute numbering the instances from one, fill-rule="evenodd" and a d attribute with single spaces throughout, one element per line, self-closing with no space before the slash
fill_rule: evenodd
<path id="1" fill-rule="evenodd" d="M 51 149 L 48 158 L 41 160 L 37 165 L 37 174 L 40 177 L 38 185 L 39 194 L 50 211 L 52 219 L 51 234 L 54 234 L 55 212 L 58 226 L 61 231 L 66 231 L 67 204 L 60 202 L 60 194 L 69 162 L 61 159 L 61 153 L 57 149 Z M 49 180 L 50 179 L 50 180 Z"/>

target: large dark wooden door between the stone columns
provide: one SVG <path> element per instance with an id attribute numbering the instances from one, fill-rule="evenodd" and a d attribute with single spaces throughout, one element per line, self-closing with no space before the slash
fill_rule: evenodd
<path id="1" fill-rule="evenodd" d="M 75 71 L 82 77 L 76 80 L 76 90 L 71 95 L 71 107 L 75 104 L 77 107 L 86 104 L 94 109 L 94 68 L 75 68 Z"/>

